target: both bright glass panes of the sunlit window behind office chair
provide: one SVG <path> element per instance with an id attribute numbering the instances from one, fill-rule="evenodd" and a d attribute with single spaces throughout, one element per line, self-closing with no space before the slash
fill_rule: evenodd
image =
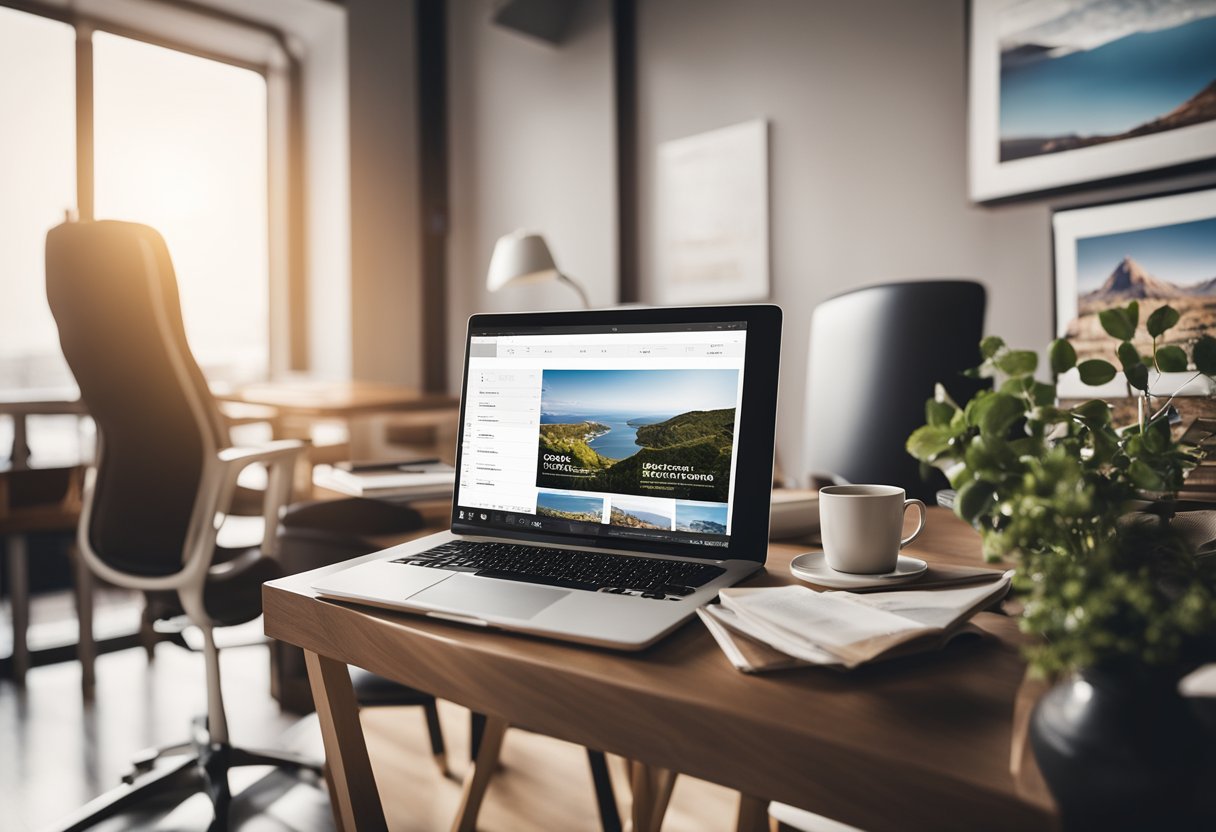
<path id="1" fill-rule="evenodd" d="M 68 212 L 157 229 L 204 373 L 213 382 L 266 377 L 271 283 L 286 280 L 282 257 L 271 263 L 281 254 L 272 229 L 286 219 L 270 210 L 266 75 L 124 36 L 128 28 L 83 27 L 91 50 L 78 49 L 68 23 L 0 7 L 0 389 L 71 382 L 43 260 L 46 231 Z M 77 88 L 78 60 L 91 60 L 91 89 Z M 79 148 L 78 97 L 92 102 L 92 141 L 85 130 Z M 77 181 L 78 153 L 91 153 L 90 182 Z M 78 204 L 78 189 L 90 186 L 94 204 Z"/>

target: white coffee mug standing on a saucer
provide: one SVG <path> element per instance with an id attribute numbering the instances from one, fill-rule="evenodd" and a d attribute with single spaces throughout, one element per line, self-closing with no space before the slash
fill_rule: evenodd
<path id="1" fill-rule="evenodd" d="M 820 534 L 828 566 L 837 572 L 878 574 L 891 572 L 900 550 L 924 529 L 925 510 L 919 500 L 906 500 L 896 485 L 828 485 L 820 489 Z M 907 538 L 903 515 L 921 510 L 921 523 Z"/>

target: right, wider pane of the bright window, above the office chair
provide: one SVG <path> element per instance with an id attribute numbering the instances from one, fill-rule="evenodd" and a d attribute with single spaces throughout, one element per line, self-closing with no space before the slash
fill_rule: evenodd
<path id="1" fill-rule="evenodd" d="M 92 55 L 95 215 L 164 236 L 208 378 L 265 377 L 265 78 L 105 32 Z"/>

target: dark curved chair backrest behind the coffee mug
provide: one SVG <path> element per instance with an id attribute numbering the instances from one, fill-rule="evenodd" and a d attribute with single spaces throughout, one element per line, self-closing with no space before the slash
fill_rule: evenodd
<path id="1" fill-rule="evenodd" d="M 961 405 L 980 388 L 962 376 L 979 364 L 986 293 L 980 283 L 925 280 L 846 292 L 815 308 L 806 394 L 806 470 L 812 477 L 900 485 L 931 500 L 905 450 L 941 382 Z"/>

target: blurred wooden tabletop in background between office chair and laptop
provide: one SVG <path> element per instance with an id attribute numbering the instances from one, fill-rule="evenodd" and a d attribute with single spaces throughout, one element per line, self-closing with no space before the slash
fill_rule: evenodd
<path id="1" fill-rule="evenodd" d="M 424 393 L 404 384 L 368 381 L 286 381 L 247 384 L 216 393 L 224 401 L 265 405 L 298 416 L 355 416 L 377 411 L 437 410 L 456 407 L 460 400 L 446 393 Z"/>

